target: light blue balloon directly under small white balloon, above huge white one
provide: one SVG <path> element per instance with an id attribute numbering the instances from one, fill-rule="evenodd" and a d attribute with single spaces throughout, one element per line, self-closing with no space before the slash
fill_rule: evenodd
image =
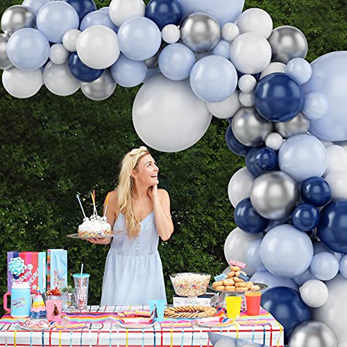
<path id="1" fill-rule="evenodd" d="M 160 53 L 158 64 L 162 74 L 174 81 L 188 78 L 195 64 L 195 55 L 192 49 L 184 44 L 169 44 Z"/>

